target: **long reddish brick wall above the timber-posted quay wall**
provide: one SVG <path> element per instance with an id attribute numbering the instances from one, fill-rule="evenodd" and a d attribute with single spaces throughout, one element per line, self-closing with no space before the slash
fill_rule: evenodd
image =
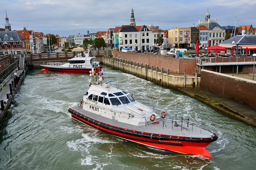
<path id="1" fill-rule="evenodd" d="M 169 68 L 170 72 L 176 74 L 184 74 L 184 70 L 186 70 L 187 74 L 195 74 L 196 70 L 196 59 L 177 59 L 162 55 L 153 55 L 152 53 L 141 54 L 121 51 L 112 51 L 112 55 L 127 61 L 148 64 L 150 67 L 153 65 L 154 68 L 156 68 L 156 66 L 161 66 L 165 71 Z"/>

